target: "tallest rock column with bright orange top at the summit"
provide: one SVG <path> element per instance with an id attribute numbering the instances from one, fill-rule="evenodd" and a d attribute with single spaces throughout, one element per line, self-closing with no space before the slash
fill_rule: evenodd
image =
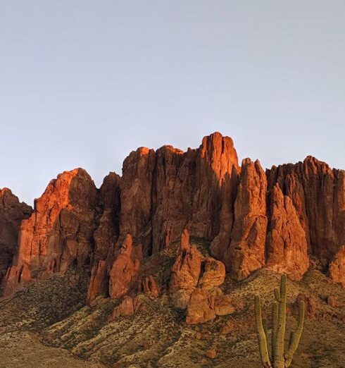
<path id="1" fill-rule="evenodd" d="M 230 137 L 218 132 L 203 137 L 196 151 L 192 235 L 213 240 L 221 232 L 230 233 L 233 181 L 237 180 L 238 171 L 237 152 Z"/>

